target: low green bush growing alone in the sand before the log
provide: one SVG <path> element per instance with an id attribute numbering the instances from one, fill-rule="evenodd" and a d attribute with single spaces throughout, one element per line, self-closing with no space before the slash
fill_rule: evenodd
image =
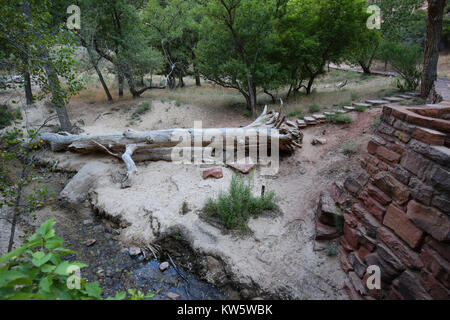
<path id="1" fill-rule="evenodd" d="M 228 192 L 221 192 L 217 199 L 209 199 L 204 212 L 210 217 L 219 218 L 227 229 L 240 228 L 245 231 L 250 217 L 258 217 L 265 210 L 276 210 L 278 200 L 273 191 L 255 197 L 250 180 L 246 182 L 236 174 L 233 175 Z"/>

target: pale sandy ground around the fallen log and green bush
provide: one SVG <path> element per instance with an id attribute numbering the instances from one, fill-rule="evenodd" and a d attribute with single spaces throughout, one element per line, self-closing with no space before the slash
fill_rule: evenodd
<path id="1" fill-rule="evenodd" d="M 129 103 L 96 105 L 95 111 L 92 105 L 78 103 L 69 111 L 85 133 L 121 132 L 129 125 Z M 239 114 L 194 105 L 177 107 L 173 102 L 161 101 L 152 105 L 152 110 L 133 128 L 191 127 L 194 120 L 200 119 L 205 120 L 205 127 L 239 126 L 249 121 Z M 39 109 L 27 111 L 30 122 L 42 119 L 44 112 Z M 343 155 L 343 144 L 352 141 L 362 151 L 379 112 L 373 109 L 355 113 L 355 121 L 350 125 L 326 124 L 306 129 L 303 148 L 282 159 L 277 176 L 261 176 L 257 168 L 253 175 L 255 193 L 262 185 L 274 190 L 281 198 L 282 214 L 251 220 L 251 235 L 224 233 L 199 217 L 206 200 L 228 188 L 232 177 L 228 168 L 223 168 L 223 179 L 203 180 L 201 173 L 207 165 L 141 163 L 133 187 L 121 189 L 124 166 L 116 159 L 48 150 L 40 152 L 39 159 L 47 164 L 57 161 L 57 169 L 64 171 L 81 170 L 81 176 L 90 167 L 89 179 L 86 174 L 80 179 L 84 184 L 81 193 L 86 192 L 87 198 L 84 206 L 92 206 L 101 215 L 120 221 L 124 227 L 120 240 L 124 245 L 145 248 L 176 235 L 186 240 L 205 264 L 202 277 L 219 287 L 233 284 L 237 295 L 247 290 L 250 297 L 345 299 L 345 275 L 337 257 L 314 251 L 314 210 L 320 191 L 357 166 L 358 156 Z M 325 137 L 328 143 L 312 146 L 310 142 L 317 136 Z M 70 193 L 71 189 L 69 185 L 65 192 Z M 183 215 L 184 201 L 189 212 Z M 322 248 L 326 245 L 317 244 Z"/>

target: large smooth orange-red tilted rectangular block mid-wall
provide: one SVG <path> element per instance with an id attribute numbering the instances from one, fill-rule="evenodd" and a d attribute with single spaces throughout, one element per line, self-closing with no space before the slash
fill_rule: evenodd
<path id="1" fill-rule="evenodd" d="M 384 216 L 383 224 L 403 239 L 411 248 L 419 246 L 423 232 L 412 223 L 405 212 L 391 204 Z"/>

